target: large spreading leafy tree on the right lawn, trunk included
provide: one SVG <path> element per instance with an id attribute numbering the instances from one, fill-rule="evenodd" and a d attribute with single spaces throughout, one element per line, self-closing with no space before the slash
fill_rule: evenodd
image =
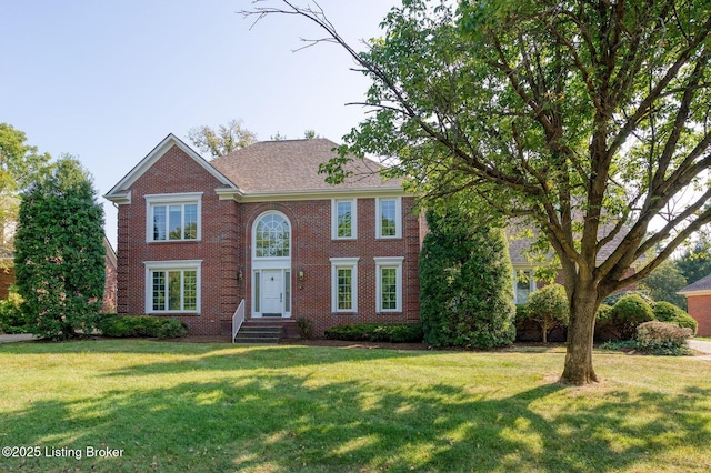
<path id="1" fill-rule="evenodd" d="M 246 14 L 317 23 L 372 81 L 328 180 L 352 155 L 393 157 L 428 208 L 447 195 L 535 228 L 570 303 L 561 381 L 597 381 L 602 300 L 711 221 L 711 1 L 408 0 L 364 52 L 322 10 L 272 3 Z"/>

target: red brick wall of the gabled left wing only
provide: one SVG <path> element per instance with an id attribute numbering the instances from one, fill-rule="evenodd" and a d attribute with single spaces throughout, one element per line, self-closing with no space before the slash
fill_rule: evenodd
<path id="1" fill-rule="evenodd" d="M 119 207 L 118 313 L 146 313 L 144 261 L 202 260 L 201 313 L 170 314 L 184 321 L 194 334 L 217 334 L 229 320 L 241 294 L 237 293 L 237 204 L 219 200 L 223 188 L 214 177 L 171 148 L 131 187 L 131 203 Z M 203 192 L 201 241 L 154 242 L 146 239 L 147 194 Z"/>

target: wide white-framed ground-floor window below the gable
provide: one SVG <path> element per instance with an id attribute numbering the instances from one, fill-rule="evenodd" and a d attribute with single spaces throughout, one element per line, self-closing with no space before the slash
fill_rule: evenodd
<path id="1" fill-rule="evenodd" d="M 201 261 L 146 262 L 146 312 L 200 312 Z"/>

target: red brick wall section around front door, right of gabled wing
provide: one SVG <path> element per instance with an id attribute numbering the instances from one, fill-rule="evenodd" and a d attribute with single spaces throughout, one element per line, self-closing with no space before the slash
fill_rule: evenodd
<path id="1" fill-rule="evenodd" d="M 331 201 L 291 201 L 246 203 L 239 205 L 244 262 L 242 293 L 247 294 L 248 318 L 251 315 L 251 231 L 263 212 L 282 212 L 291 222 L 292 319 L 310 319 L 317 332 L 343 323 L 417 322 L 420 318 L 418 254 L 420 250 L 419 215 L 413 214 L 412 198 L 402 199 L 402 239 L 375 239 L 375 199 L 358 199 L 358 238 L 331 240 Z M 358 313 L 331 312 L 330 258 L 360 258 L 358 261 Z M 402 262 L 402 312 L 375 312 L 377 256 L 404 256 Z M 303 280 L 299 280 L 303 271 Z"/>

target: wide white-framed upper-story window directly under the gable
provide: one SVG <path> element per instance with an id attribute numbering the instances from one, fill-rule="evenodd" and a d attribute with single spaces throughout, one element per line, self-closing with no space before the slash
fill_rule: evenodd
<path id="1" fill-rule="evenodd" d="M 146 195 L 147 241 L 201 239 L 202 192 Z"/>

